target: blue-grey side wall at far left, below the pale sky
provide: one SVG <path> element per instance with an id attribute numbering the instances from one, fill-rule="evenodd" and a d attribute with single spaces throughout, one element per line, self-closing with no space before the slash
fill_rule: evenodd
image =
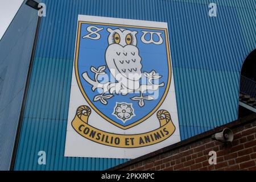
<path id="1" fill-rule="evenodd" d="M 37 19 L 23 3 L 0 41 L 0 171 L 10 168 Z"/>

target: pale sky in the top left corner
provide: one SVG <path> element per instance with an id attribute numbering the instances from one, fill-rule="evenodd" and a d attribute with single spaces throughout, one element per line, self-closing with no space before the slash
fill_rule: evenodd
<path id="1" fill-rule="evenodd" d="M 22 2 L 23 0 L 0 0 L 0 39 L 5 34 Z"/>

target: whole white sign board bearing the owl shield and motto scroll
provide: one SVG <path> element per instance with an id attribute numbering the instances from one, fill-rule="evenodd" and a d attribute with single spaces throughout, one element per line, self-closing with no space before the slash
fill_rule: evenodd
<path id="1" fill-rule="evenodd" d="M 134 158 L 179 140 L 167 23 L 79 15 L 65 156 Z"/>

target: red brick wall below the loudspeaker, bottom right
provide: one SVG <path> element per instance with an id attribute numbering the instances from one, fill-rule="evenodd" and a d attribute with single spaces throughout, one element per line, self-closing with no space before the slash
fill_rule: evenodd
<path id="1" fill-rule="evenodd" d="M 208 136 L 117 169 L 256 170 L 256 119 L 231 129 L 234 140 L 230 145 L 214 141 Z M 216 165 L 209 164 L 209 151 L 217 152 Z"/>

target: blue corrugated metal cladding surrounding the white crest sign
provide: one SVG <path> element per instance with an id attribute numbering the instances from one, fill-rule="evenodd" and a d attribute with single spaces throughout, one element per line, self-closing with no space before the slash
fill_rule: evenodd
<path id="1" fill-rule="evenodd" d="M 102 170 L 128 159 L 65 158 L 77 15 L 168 22 L 181 139 L 237 119 L 240 69 L 256 48 L 256 1 L 51 0 L 42 19 L 15 170 Z M 38 151 L 47 164 L 38 165 Z"/>

